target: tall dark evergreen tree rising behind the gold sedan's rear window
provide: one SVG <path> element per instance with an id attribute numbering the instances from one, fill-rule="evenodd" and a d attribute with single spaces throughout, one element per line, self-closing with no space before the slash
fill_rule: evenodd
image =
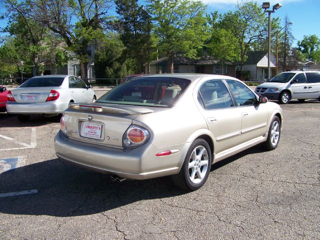
<path id="1" fill-rule="evenodd" d="M 134 59 L 137 72 L 143 72 L 143 64 L 150 60 L 152 28 L 149 13 L 137 0 L 115 0 L 119 14 L 121 40 L 126 55 Z"/>

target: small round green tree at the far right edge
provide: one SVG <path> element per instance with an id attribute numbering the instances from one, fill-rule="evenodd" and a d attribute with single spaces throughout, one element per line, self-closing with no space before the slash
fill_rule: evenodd
<path id="1" fill-rule="evenodd" d="M 320 38 L 316 35 L 303 36 L 301 41 L 297 42 L 298 51 L 309 60 L 320 62 Z"/>

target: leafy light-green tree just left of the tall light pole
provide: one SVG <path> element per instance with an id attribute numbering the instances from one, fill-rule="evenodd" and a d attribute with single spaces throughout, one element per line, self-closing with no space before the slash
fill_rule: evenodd
<path id="1" fill-rule="evenodd" d="M 256 2 L 237 3 L 237 9 L 222 16 L 220 24 L 232 32 L 240 50 L 241 68 L 246 60 L 246 53 L 250 50 L 254 40 L 267 34 L 267 19 L 262 8 Z"/>

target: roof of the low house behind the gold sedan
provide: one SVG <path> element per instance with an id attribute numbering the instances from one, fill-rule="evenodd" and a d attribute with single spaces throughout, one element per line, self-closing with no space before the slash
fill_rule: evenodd
<path id="1" fill-rule="evenodd" d="M 173 59 L 173 64 L 175 65 L 188 65 L 188 64 L 195 64 L 195 65 L 212 65 L 212 64 L 219 64 L 220 60 L 217 58 L 214 58 L 213 56 L 201 56 L 199 59 L 189 59 L 185 56 L 182 56 L 180 54 L 177 54 Z M 150 62 L 151 65 L 156 64 L 166 64 L 167 59 L 166 57 L 161 57 L 158 60 L 153 60 Z M 231 61 L 226 61 L 225 64 L 234 64 Z"/>

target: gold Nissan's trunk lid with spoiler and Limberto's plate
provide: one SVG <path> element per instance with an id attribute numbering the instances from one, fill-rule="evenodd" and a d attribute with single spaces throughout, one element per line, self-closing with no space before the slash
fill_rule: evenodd
<path id="1" fill-rule="evenodd" d="M 162 109 L 103 103 L 71 103 L 64 111 L 64 121 L 70 139 L 122 148 L 122 136 L 133 118 Z"/>

